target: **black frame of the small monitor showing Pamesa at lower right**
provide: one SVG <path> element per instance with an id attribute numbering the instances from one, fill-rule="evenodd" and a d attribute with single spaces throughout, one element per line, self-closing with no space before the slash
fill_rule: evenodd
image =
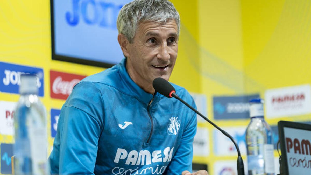
<path id="1" fill-rule="evenodd" d="M 279 140 L 281 143 L 281 168 L 282 168 L 282 175 L 290 175 L 288 169 L 288 162 L 287 162 L 287 154 L 286 154 L 286 145 L 285 145 L 285 138 L 284 138 L 284 127 L 287 128 L 294 128 L 300 130 L 309 130 L 311 131 L 311 125 L 293 121 L 279 121 L 277 123 L 278 130 L 279 130 Z"/>

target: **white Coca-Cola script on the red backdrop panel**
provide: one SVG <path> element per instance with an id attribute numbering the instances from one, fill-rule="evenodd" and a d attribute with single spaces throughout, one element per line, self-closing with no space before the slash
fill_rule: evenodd
<path id="1" fill-rule="evenodd" d="M 71 81 L 63 81 L 63 78 L 59 76 L 53 82 L 52 86 L 53 93 L 70 95 L 73 87 L 80 81 L 81 80 L 79 79 L 72 79 Z"/>

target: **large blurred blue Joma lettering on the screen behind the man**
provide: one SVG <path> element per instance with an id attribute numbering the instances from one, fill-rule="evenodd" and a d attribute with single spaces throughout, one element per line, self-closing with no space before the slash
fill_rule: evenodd
<path id="1" fill-rule="evenodd" d="M 95 0 L 72 0 L 72 12 L 66 12 L 66 22 L 70 26 L 78 25 L 80 15 L 87 25 L 116 29 L 118 13 L 123 5 Z"/>

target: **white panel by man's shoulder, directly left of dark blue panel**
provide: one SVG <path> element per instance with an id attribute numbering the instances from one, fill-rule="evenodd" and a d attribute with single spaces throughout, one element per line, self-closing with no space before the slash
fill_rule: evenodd
<path id="1" fill-rule="evenodd" d="M 204 94 L 198 94 L 191 92 L 190 95 L 192 96 L 196 106 L 197 111 L 207 117 L 207 100 Z M 207 122 L 201 116 L 197 115 L 198 122 Z"/>

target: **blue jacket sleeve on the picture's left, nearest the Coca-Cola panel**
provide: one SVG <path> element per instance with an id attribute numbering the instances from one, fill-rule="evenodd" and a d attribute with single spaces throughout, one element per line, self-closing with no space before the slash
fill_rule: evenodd
<path id="1" fill-rule="evenodd" d="M 50 155 L 52 174 L 94 174 L 103 127 L 102 105 L 100 92 L 93 84 L 75 86 L 59 116 Z"/>

